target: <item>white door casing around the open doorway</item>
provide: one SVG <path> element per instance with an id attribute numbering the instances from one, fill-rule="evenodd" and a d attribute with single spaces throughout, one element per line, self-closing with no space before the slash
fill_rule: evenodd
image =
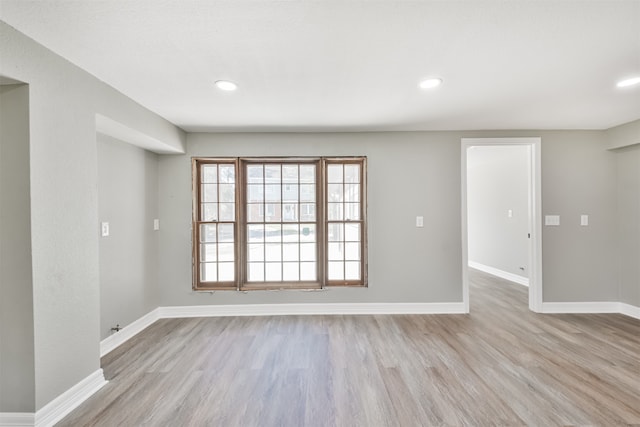
<path id="1" fill-rule="evenodd" d="M 542 312 L 542 139 L 525 138 L 462 138 L 461 150 L 461 231 L 462 231 L 462 301 L 469 312 L 469 242 L 467 236 L 467 150 L 473 146 L 525 145 L 529 147 L 529 310 Z"/>

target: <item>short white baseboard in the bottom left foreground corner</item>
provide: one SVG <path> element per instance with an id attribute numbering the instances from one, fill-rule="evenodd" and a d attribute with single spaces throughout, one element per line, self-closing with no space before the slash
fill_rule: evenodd
<path id="1" fill-rule="evenodd" d="M 98 369 L 36 412 L 35 425 L 37 427 L 53 426 L 105 384 L 107 381 L 104 379 L 102 369 Z"/>

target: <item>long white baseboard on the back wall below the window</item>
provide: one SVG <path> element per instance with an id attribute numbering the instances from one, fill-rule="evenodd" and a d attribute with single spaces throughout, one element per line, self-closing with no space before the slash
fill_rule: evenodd
<path id="1" fill-rule="evenodd" d="M 331 314 L 460 314 L 452 303 L 237 304 L 160 307 L 160 317 L 287 316 Z"/>

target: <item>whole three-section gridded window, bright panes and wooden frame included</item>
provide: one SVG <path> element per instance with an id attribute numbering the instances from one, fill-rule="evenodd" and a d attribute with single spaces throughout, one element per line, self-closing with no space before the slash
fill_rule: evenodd
<path id="1" fill-rule="evenodd" d="M 366 286 L 364 166 L 194 159 L 194 289 Z"/>

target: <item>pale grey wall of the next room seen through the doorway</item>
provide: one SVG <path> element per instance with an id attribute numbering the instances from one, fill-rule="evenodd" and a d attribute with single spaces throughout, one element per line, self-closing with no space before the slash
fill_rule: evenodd
<path id="1" fill-rule="evenodd" d="M 528 193 L 528 147 L 477 146 L 467 150 L 470 262 L 528 276 Z"/>

